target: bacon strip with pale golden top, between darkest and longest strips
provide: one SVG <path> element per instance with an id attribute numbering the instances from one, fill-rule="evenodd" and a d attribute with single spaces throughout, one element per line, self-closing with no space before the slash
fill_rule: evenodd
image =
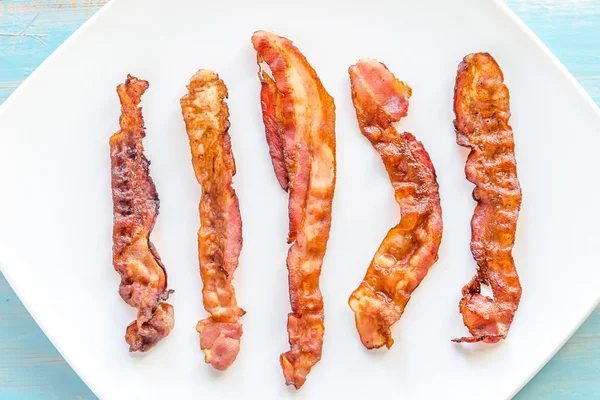
<path id="1" fill-rule="evenodd" d="M 192 164 L 202 185 L 198 231 L 204 308 L 210 317 L 196 325 L 204 358 L 217 370 L 227 369 L 240 351 L 245 314 L 232 285 L 242 250 L 242 219 L 231 186 L 235 162 L 229 137 L 227 87 L 210 70 L 199 70 L 181 98 L 181 111 L 192 150 Z"/>

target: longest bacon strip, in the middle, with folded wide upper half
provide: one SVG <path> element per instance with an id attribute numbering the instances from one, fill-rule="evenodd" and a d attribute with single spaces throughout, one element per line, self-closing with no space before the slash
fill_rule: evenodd
<path id="1" fill-rule="evenodd" d="M 287 385 L 299 389 L 323 346 L 323 298 L 319 276 L 335 187 L 335 105 L 306 58 L 284 37 L 258 31 L 252 36 L 258 62 L 273 74 L 259 74 L 267 141 L 277 179 L 289 191 L 287 258 L 292 312 L 291 350 L 280 362 Z"/>

